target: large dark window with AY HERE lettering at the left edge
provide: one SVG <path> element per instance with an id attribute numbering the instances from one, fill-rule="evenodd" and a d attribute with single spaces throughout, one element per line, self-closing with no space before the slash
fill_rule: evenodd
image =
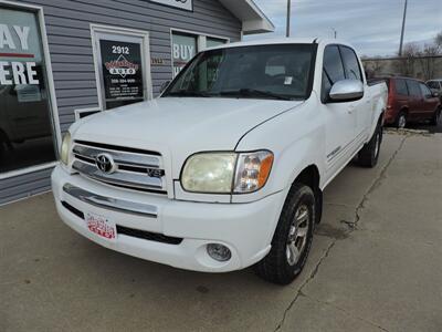
<path id="1" fill-rule="evenodd" d="M 0 7 L 0 175 L 54 162 L 51 94 L 38 13 Z"/>

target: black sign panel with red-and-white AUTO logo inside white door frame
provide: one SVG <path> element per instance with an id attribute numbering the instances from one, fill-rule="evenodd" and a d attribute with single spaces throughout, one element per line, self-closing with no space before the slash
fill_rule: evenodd
<path id="1" fill-rule="evenodd" d="M 101 40 L 99 49 L 106 100 L 143 98 L 141 44 Z"/>

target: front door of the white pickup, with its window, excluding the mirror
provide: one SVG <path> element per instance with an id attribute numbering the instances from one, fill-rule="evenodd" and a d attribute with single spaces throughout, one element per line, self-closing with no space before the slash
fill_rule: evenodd
<path id="1" fill-rule="evenodd" d="M 345 69 L 337 45 L 327 45 L 324 50 L 322 79 L 322 108 L 325 114 L 327 170 L 334 174 L 341 160 L 347 159 L 355 137 L 356 114 L 351 112 L 354 102 L 336 103 L 329 100 L 333 84 L 345 80 Z"/>

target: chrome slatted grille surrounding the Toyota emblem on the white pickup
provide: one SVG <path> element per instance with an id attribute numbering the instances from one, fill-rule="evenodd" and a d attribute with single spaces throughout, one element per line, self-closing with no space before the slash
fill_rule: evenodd
<path id="1" fill-rule="evenodd" d="M 162 157 L 159 153 L 115 145 L 75 141 L 72 168 L 95 180 L 128 189 L 166 193 Z M 115 164 L 110 173 L 97 167 L 97 156 L 106 154 Z"/>

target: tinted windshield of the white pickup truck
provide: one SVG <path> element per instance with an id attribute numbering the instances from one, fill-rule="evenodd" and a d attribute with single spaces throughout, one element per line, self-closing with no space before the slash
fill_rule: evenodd
<path id="1" fill-rule="evenodd" d="M 162 96 L 305 100 L 315 44 L 272 44 L 199 53 Z"/>

